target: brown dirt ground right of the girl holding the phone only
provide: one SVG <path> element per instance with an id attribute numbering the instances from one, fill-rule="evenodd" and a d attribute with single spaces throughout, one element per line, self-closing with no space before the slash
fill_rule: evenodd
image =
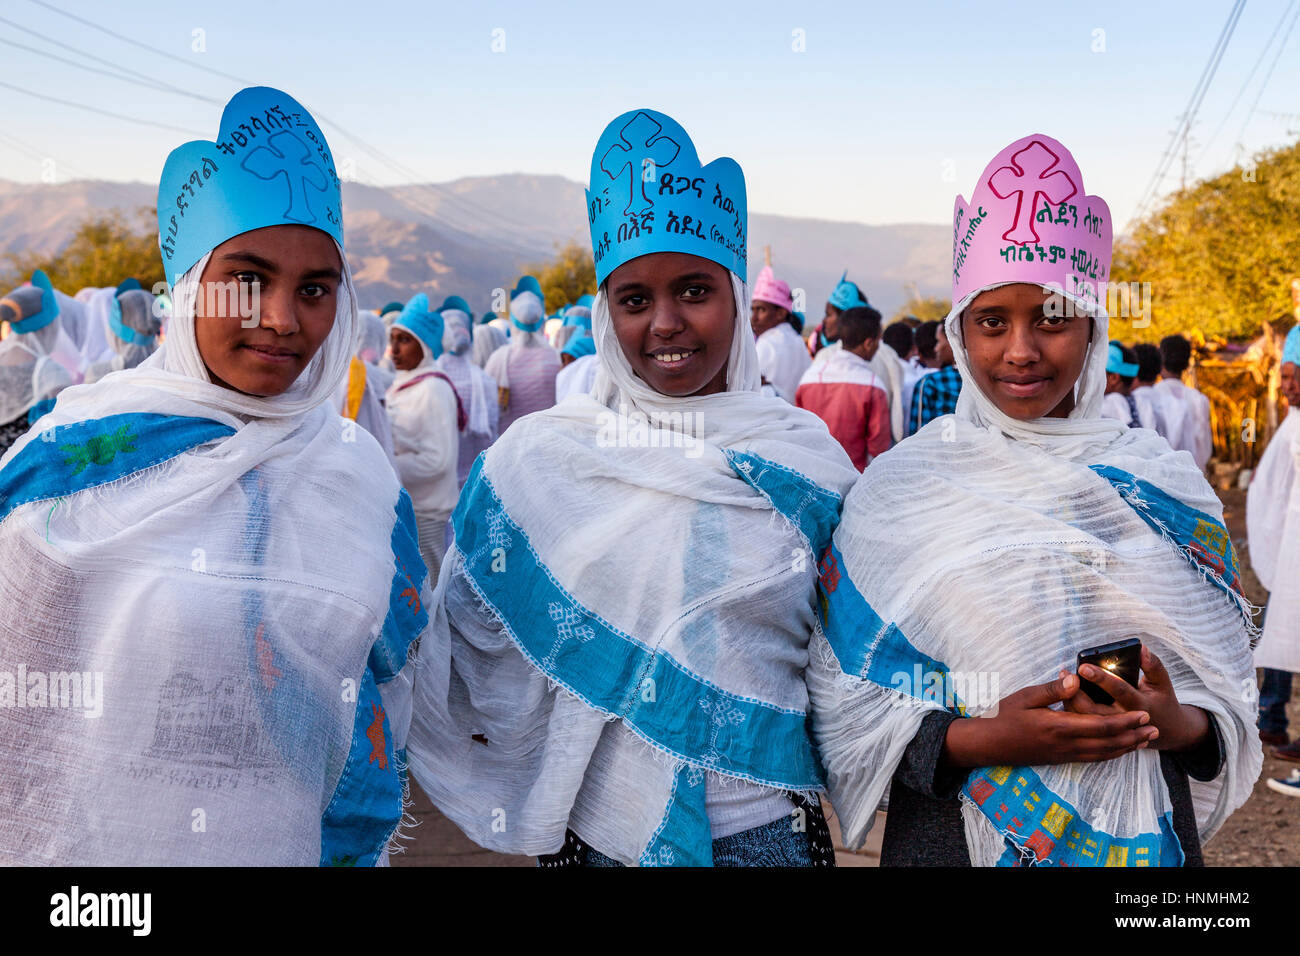
<path id="1" fill-rule="evenodd" d="M 1251 549 L 1245 540 L 1245 492 L 1219 492 L 1228 533 L 1243 564 L 1247 597 L 1262 605 L 1268 592 L 1249 570 Z M 1295 682 L 1300 689 L 1300 682 Z M 1291 735 L 1300 734 L 1300 700 L 1294 695 L 1287 708 Z M 1264 773 L 1254 784 L 1254 793 L 1205 847 L 1209 866 L 1297 866 L 1300 865 L 1300 799 L 1274 793 L 1270 777 L 1287 777 L 1300 763 L 1278 760 L 1270 747 L 1264 748 Z"/>

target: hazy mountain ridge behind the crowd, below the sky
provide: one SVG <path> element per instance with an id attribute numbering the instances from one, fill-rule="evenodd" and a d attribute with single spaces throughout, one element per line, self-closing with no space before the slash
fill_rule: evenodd
<path id="1" fill-rule="evenodd" d="M 148 208 L 156 187 L 138 182 L 78 179 L 16 183 L 0 179 L 0 252 L 55 252 L 87 216 Z M 510 287 L 524 265 L 549 259 L 558 245 L 586 241 L 584 191 L 559 176 L 489 176 L 447 183 L 393 187 L 343 183 L 348 260 L 365 307 L 406 299 L 464 295 L 476 311 L 491 291 Z M 777 276 L 803 289 L 806 308 L 820 317 L 844 269 L 885 317 L 907 298 L 948 295 L 948 226 L 870 226 L 750 213 L 750 273 L 772 247 Z"/>

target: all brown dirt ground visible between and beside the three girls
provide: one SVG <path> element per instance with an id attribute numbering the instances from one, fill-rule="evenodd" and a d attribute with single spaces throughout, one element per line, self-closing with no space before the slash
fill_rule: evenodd
<path id="1" fill-rule="evenodd" d="M 1221 492 L 1228 532 L 1238 548 L 1243 564 L 1245 592 L 1254 604 L 1262 604 L 1265 592 L 1249 570 L 1249 548 L 1245 541 L 1245 492 Z M 1296 682 L 1300 691 L 1300 680 Z M 1300 734 L 1300 701 L 1295 697 L 1288 708 L 1292 734 Z M 1234 813 L 1218 835 L 1205 847 L 1209 866 L 1297 866 L 1300 865 L 1300 799 L 1274 793 L 1268 787 L 1270 777 L 1286 777 L 1300 763 L 1280 761 L 1265 748 L 1264 773 L 1254 784 L 1254 793 L 1242 809 Z M 417 826 L 406 840 L 406 852 L 393 857 L 395 866 L 536 866 L 532 857 L 503 856 L 476 845 L 446 817 L 438 813 L 429 799 L 412 782 L 415 806 L 412 816 Z M 829 813 L 832 836 L 836 843 L 836 862 L 840 866 L 879 866 L 883 816 L 876 821 L 867 845 L 858 852 L 844 849 L 840 829 Z"/>

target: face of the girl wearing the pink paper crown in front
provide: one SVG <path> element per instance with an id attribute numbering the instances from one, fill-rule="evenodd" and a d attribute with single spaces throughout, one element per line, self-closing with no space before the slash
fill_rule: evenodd
<path id="1" fill-rule="evenodd" d="M 1092 319 L 1048 315 L 1052 295 L 1017 282 L 980 293 L 962 313 L 975 385 L 1004 415 L 1020 421 L 1066 418 L 1088 355 Z"/>

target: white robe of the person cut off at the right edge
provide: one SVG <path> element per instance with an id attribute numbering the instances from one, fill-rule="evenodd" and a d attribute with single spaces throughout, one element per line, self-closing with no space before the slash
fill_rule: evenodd
<path id="1" fill-rule="evenodd" d="M 1269 589 L 1257 667 L 1300 671 L 1300 411 L 1282 421 L 1245 496 L 1251 567 Z"/>

